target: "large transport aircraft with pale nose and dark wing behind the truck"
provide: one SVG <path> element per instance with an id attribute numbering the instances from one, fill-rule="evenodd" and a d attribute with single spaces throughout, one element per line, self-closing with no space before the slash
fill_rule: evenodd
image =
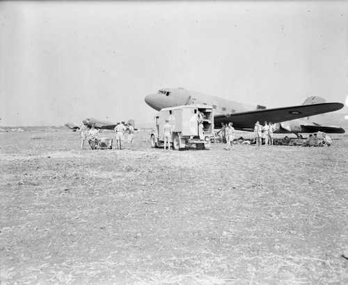
<path id="1" fill-rule="evenodd" d="M 145 102 L 157 111 L 166 107 L 181 105 L 209 105 L 214 108 L 214 124 L 217 128 L 221 126 L 221 123 L 232 122 L 235 129 L 248 131 L 253 130 L 256 121 L 260 121 L 262 124 L 265 121 L 280 123 L 297 118 L 305 118 L 337 111 L 344 107 L 344 105 L 339 102 L 316 102 L 314 104 L 313 102 L 308 102 L 306 105 L 267 109 L 261 105 L 245 105 L 233 100 L 206 95 L 196 91 L 189 91 L 184 88 L 160 89 L 155 94 L 147 95 L 145 97 Z M 303 131 L 296 130 L 294 133 L 298 132 Z M 305 130 L 305 132 L 307 132 L 307 130 Z"/>

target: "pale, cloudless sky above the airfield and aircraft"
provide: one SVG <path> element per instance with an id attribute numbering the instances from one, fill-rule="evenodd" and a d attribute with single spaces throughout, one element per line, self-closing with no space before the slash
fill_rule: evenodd
<path id="1" fill-rule="evenodd" d="M 166 87 L 345 102 L 348 1 L 0 2 L 1 125 L 149 123 Z"/>

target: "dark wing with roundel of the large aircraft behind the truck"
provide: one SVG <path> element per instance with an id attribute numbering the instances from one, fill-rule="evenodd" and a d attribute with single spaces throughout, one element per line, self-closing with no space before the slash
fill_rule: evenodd
<path id="1" fill-rule="evenodd" d="M 330 111 L 337 111 L 342 109 L 342 107 L 344 107 L 342 103 L 333 102 L 221 114 L 214 116 L 214 124 L 217 126 L 221 123 L 232 122 L 233 127 L 237 129 L 253 129 L 257 121 L 261 124 L 265 121 L 280 123 L 283 121 L 291 121 L 295 118 L 304 118 Z"/>

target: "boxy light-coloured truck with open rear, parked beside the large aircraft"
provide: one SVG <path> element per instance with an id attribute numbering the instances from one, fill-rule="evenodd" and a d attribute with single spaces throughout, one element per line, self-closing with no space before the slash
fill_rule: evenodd
<path id="1" fill-rule="evenodd" d="M 208 105 L 184 105 L 161 109 L 155 116 L 155 130 L 151 146 L 164 144 L 163 126 L 168 120 L 172 126 L 171 144 L 175 150 L 195 145 L 196 149 L 209 148 L 214 132 L 213 108 Z"/>

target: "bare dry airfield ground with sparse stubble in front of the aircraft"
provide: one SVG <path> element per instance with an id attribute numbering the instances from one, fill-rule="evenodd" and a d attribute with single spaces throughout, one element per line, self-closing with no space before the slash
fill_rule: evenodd
<path id="1" fill-rule="evenodd" d="M 348 137 L 330 148 L 79 150 L 0 133 L 1 284 L 348 284 Z"/>

